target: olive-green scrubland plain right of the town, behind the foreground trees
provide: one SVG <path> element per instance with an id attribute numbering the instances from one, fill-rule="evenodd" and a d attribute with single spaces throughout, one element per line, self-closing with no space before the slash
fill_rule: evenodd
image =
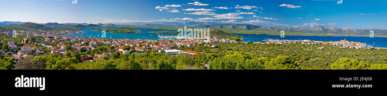
<path id="1" fill-rule="evenodd" d="M 214 53 L 219 57 L 226 57 L 228 51 L 250 53 L 255 57 L 277 58 L 278 56 L 284 56 L 294 60 L 298 65 L 297 69 L 330 69 L 330 65 L 340 58 L 359 60 L 359 62 L 368 63 L 371 67 L 372 65 L 375 67 L 383 67 L 383 65 L 374 64 L 387 63 L 387 55 L 385 54 L 387 50 L 344 49 L 330 45 L 304 44 L 289 44 L 284 46 L 277 44 L 217 43 L 216 45 L 217 48 L 196 46 L 176 49 L 192 50 L 207 54 Z M 325 48 L 322 50 L 317 49 L 320 46 L 324 46 Z"/>

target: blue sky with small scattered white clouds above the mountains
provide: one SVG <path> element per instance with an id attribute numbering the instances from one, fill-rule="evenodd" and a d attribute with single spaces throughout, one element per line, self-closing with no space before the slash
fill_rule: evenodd
<path id="1" fill-rule="evenodd" d="M 387 29 L 387 0 L 1 0 L 0 21 L 197 21 Z"/>

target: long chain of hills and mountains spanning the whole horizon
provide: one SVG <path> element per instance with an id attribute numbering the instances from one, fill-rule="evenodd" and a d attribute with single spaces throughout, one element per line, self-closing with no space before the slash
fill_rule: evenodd
<path id="1" fill-rule="evenodd" d="M 1 24 L 8 24 L 7 26 L 4 26 L 3 28 L 10 29 L 11 26 L 15 26 L 17 24 L 27 24 L 27 25 L 34 25 L 34 29 L 37 27 L 45 26 L 64 26 L 64 27 L 70 27 L 70 28 L 91 28 L 91 27 L 134 27 L 129 25 L 117 25 L 117 24 L 87 24 L 87 23 L 62 23 L 58 24 L 57 22 L 53 23 L 46 23 L 46 24 L 40 24 L 41 26 L 36 25 L 36 23 L 31 24 L 32 22 L 10 22 L 10 21 L 4 21 L 0 22 Z M 196 25 L 196 26 L 189 26 L 194 28 L 209 28 L 209 29 L 234 29 L 234 30 L 246 30 L 246 31 L 285 31 L 289 33 L 309 33 L 309 34 L 343 34 L 343 35 L 368 35 L 370 34 L 370 31 L 374 31 L 375 35 L 387 35 L 386 29 L 354 29 L 351 27 L 345 27 L 345 28 L 339 28 L 339 27 L 329 27 L 329 26 L 313 26 L 313 27 L 306 27 L 306 26 L 299 26 L 299 27 L 265 27 L 265 26 L 259 26 L 259 25 L 252 25 L 252 24 L 207 24 L 207 22 L 153 22 L 153 24 L 146 23 L 142 25 L 138 25 L 135 27 L 147 27 L 147 28 L 176 28 L 176 27 L 184 27 L 182 25 L 192 25 L 192 24 L 202 24 L 202 25 Z M 24 25 L 21 25 L 19 27 L 30 29 Z M 156 29 L 159 29 L 156 28 Z"/>

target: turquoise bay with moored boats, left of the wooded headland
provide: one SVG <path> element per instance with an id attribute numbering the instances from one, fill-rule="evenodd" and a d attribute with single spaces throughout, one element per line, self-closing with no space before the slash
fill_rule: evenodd
<path id="1" fill-rule="evenodd" d="M 116 27 L 113 27 L 116 28 Z M 167 29 L 146 29 L 146 28 L 134 28 L 134 29 L 139 29 L 140 31 L 138 33 L 111 33 L 111 32 L 106 32 L 106 38 L 104 39 L 154 39 L 157 40 L 159 39 L 157 37 L 158 34 L 163 35 L 163 36 L 176 36 L 177 34 L 175 33 L 149 33 L 149 31 L 176 31 L 176 30 L 167 30 Z M 88 38 L 101 38 L 101 36 L 98 37 L 99 35 L 102 35 L 101 31 L 93 31 L 95 29 L 87 29 L 87 28 L 82 28 L 80 31 L 85 31 L 84 33 L 86 34 L 67 34 L 67 35 L 61 35 L 61 36 L 73 36 L 73 37 L 88 37 Z M 89 35 L 89 36 L 87 36 Z M 94 37 L 95 36 L 95 37 Z M 110 38 L 111 37 L 111 38 Z"/>

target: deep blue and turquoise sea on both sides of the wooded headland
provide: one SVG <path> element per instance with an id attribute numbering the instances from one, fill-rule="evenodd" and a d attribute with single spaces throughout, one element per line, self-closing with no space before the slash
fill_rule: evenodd
<path id="1" fill-rule="evenodd" d="M 117 27 L 112 27 L 117 28 Z M 111 33 L 106 32 L 106 38 L 104 39 L 154 39 L 157 40 L 158 35 L 163 36 L 176 36 L 175 33 L 149 33 L 150 31 L 176 31 L 168 29 L 146 29 L 146 28 L 134 28 L 139 29 L 138 33 Z M 82 28 L 80 31 L 84 31 L 85 34 L 65 34 L 61 36 L 73 36 L 73 37 L 88 37 L 88 38 L 101 38 L 101 31 L 93 31 L 95 29 Z M 387 38 L 385 37 L 360 37 L 360 36 L 291 36 L 285 35 L 284 38 L 281 38 L 280 35 L 267 35 L 267 34 L 240 34 L 240 33 L 231 33 L 235 35 L 243 36 L 244 42 L 262 42 L 267 39 L 279 39 L 279 40 L 311 40 L 311 41 L 354 41 L 360 43 L 366 43 L 367 45 L 375 47 L 387 47 Z M 111 37 L 111 38 L 110 38 Z"/>

